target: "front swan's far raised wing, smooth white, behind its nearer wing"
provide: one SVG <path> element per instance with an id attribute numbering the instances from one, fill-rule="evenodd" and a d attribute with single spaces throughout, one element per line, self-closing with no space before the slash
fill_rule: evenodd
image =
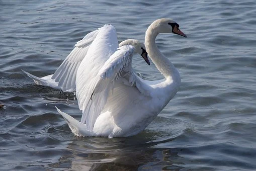
<path id="1" fill-rule="evenodd" d="M 105 25 L 99 30 L 76 72 L 76 97 L 80 110 L 84 111 L 83 104 L 93 93 L 92 85 L 95 85 L 96 76 L 117 48 L 116 29 L 111 25 Z M 84 122 L 83 119 L 82 123 Z"/>

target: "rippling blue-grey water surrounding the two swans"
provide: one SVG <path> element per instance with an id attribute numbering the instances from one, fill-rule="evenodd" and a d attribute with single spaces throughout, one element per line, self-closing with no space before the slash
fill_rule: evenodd
<path id="1" fill-rule="evenodd" d="M 0 1 L 0 169 L 255 170 L 256 2 Z M 175 98 L 140 134 L 75 137 L 54 106 L 80 119 L 73 94 L 35 85 L 21 69 L 52 74 L 87 33 L 112 24 L 143 41 L 158 18 L 188 38 L 162 34 L 179 69 Z M 162 75 L 134 57 L 149 80 Z"/>

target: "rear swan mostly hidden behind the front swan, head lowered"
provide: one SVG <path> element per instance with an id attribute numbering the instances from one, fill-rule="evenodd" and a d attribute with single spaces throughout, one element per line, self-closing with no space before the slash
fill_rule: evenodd
<path id="1" fill-rule="evenodd" d="M 108 26 L 106 25 L 105 27 Z M 54 72 L 54 74 L 44 77 L 37 77 L 29 72 L 24 71 L 23 69 L 22 71 L 26 73 L 29 77 L 31 77 L 36 84 L 62 90 L 63 92 L 74 92 L 76 71 L 83 58 L 86 56 L 88 49 L 90 48 L 96 36 L 104 30 L 104 27 L 98 28 L 97 30 L 88 33 L 86 36 L 84 36 L 82 40 L 78 41 L 74 45 L 75 48 L 65 58 L 65 60 Z M 150 65 L 144 43 L 140 43 L 138 40 L 135 39 L 127 39 L 125 41 L 122 41 L 119 44 L 119 47 L 124 45 L 134 46 L 136 53 L 140 54 L 147 62 L 147 64 Z"/>

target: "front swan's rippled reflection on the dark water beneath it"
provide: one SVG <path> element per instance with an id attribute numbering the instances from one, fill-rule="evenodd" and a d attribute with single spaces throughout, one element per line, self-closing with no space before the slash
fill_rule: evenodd
<path id="1" fill-rule="evenodd" d="M 76 138 L 67 147 L 72 154 L 61 156 L 57 163 L 49 166 L 59 168 L 69 165 L 74 170 L 183 168 L 185 163 L 178 155 L 182 149 L 155 149 L 158 142 L 148 141 L 153 136 L 153 133 L 145 131 L 129 138 Z"/>

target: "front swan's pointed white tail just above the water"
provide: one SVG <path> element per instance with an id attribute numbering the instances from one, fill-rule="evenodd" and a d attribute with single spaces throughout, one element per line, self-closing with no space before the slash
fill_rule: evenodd
<path id="1" fill-rule="evenodd" d="M 86 124 L 82 124 L 81 122 L 77 121 L 70 115 L 64 112 L 61 112 L 56 106 L 55 108 L 66 120 L 69 128 L 71 129 L 71 131 L 75 136 L 94 136 L 94 133 L 87 130 Z"/>

